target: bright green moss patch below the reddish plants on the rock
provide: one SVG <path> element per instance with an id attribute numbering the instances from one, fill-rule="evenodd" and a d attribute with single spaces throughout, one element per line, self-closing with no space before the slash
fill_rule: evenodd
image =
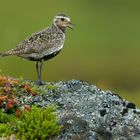
<path id="1" fill-rule="evenodd" d="M 61 130 L 55 114 L 55 108 L 38 108 L 33 106 L 32 111 L 24 111 L 17 118 L 0 112 L 0 136 L 15 134 L 19 139 L 41 139 L 53 137 Z"/>

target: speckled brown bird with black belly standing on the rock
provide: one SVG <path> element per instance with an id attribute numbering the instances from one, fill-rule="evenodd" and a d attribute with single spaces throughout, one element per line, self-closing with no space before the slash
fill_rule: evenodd
<path id="1" fill-rule="evenodd" d="M 36 61 L 37 83 L 42 85 L 43 62 L 55 57 L 62 50 L 66 29 L 73 29 L 73 27 L 74 24 L 70 17 L 67 14 L 59 13 L 54 17 L 49 27 L 31 34 L 15 48 L 0 53 L 0 56 L 15 55 L 26 60 Z"/>

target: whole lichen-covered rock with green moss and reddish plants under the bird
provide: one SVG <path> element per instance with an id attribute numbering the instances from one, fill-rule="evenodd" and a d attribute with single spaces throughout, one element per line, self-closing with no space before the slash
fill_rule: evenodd
<path id="1" fill-rule="evenodd" d="M 140 139 L 140 109 L 110 91 L 103 91 L 95 85 L 79 80 L 49 82 L 38 86 L 31 81 L 9 77 L 2 79 L 0 107 L 5 114 L 0 118 L 4 124 L 1 134 L 14 134 L 21 139 Z M 41 112 L 46 114 L 44 108 L 52 104 L 57 106 L 55 119 L 51 117 L 52 121 L 41 121 L 44 119 Z M 39 122 L 42 123 L 39 125 Z M 51 129 L 47 123 L 52 124 Z M 54 129 L 56 136 L 52 138 L 54 133 L 50 131 Z"/>

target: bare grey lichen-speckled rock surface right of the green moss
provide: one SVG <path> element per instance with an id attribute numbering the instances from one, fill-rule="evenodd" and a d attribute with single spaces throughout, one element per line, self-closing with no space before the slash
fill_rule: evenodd
<path id="1" fill-rule="evenodd" d="M 30 102 L 58 106 L 64 127 L 55 140 L 140 140 L 140 109 L 134 103 L 79 80 L 49 85 Z"/>

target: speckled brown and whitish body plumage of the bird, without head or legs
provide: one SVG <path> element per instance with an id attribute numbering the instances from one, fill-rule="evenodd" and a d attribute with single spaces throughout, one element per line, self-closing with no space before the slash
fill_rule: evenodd
<path id="1" fill-rule="evenodd" d="M 47 29 L 32 34 L 22 41 L 16 48 L 3 55 L 17 55 L 29 60 L 41 60 L 62 49 L 65 41 L 65 33 L 58 27 L 51 25 Z"/>

